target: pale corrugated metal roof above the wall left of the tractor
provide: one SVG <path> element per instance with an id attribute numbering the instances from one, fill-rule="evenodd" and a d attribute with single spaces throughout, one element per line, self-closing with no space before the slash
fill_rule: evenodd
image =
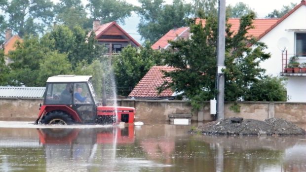
<path id="1" fill-rule="evenodd" d="M 0 97 L 4 98 L 42 98 L 45 87 L 2 87 Z"/>

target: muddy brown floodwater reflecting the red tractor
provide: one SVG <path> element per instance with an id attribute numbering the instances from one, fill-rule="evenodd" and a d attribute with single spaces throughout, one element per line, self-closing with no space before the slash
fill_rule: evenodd
<path id="1" fill-rule="evenodd" d="M 306 172 L 306 136 L 192 136 L 190 129 L 0 122 L 0 172 Z"/>

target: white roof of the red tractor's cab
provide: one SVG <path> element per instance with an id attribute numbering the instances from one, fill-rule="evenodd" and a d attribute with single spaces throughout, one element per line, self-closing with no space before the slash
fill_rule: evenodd
<path id="1" fill-rule="evenodd" d="M 47 82 L 87 82 L 91 75 L 56 75 L 48 78 Z"/>

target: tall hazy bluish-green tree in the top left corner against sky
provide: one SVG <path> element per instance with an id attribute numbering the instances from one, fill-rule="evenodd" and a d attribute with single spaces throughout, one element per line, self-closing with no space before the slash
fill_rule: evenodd
<path id="1" fill-rule="evenodd" d="M 0 8 L 8 16 L 7 27 L 23 37 L 44 31 L 53 18 L 50 0 L 1 0 Z"/>

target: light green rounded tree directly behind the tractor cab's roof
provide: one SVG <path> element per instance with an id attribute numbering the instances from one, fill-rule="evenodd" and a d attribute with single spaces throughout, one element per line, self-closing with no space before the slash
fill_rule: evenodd
<path id="1" fill-rule="evenodd" d="M 67 54 L 50 51 L 40 60 L 37 83 L 38 85 L 44 85 L 50 76 L 71 73 L 72 68 L 68 61 Z"/>

